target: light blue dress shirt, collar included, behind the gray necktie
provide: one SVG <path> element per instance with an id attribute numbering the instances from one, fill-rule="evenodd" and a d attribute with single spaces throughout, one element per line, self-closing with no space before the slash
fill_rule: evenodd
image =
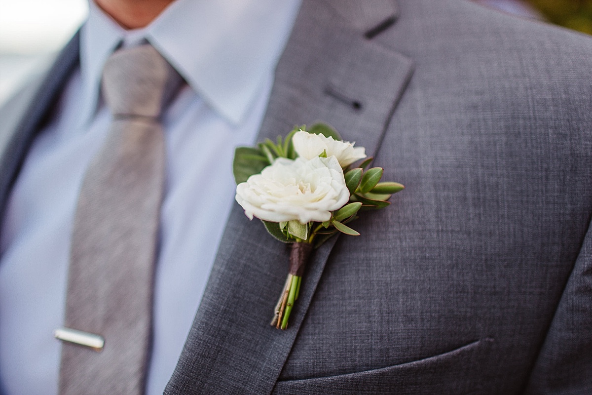
<path id="1" fill-rule="evenodd" d="M 234 147 L 252 144 L 300 0 L 177 0 L 126 31 L 91 2 L 81 66 L 31 147 L 0 240 L 0 384 L 56 394 L 73 214 L 89 160 L 107 136 L 102 66 L 120 43 L 148 40 L 188 83 L 166 111 L 165 200 L 147 394 L 162 394 L 200 304 L 230 207 Z M 287 133 L 278 130 L 278 134 Z"/>

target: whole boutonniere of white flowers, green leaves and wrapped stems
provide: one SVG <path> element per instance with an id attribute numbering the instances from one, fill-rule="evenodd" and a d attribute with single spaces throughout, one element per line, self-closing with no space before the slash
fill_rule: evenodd
<path id="1" fill-rule="evenodd" d="M 380 182 L 382 168 L 366 170 L 372 158 L 354 144 L 332 127 L 315 124 L 308 131 L 297 127 L 277 143 L 267 139 L 234 153 L 236 201 L 249 219 L 262 220 L 270 235 L 292 243 L 288 277 L 271 322 L 278 329 L 288 327 L 313 249 L 339 232 L 359 236 L 348 224 L 363 210 L 387 207 L 391 195 L 404 188 Z"/>

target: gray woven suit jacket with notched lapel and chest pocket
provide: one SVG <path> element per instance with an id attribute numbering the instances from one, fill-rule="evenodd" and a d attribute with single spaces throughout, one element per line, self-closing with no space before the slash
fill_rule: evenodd
<path id="1" fill-rule="evenodd" d="M 2 158 L 2 207 L 69 69 Z M 406 190 L 314 252 L 238 205 L 167 394 L 592 390 L 592 40 L 456 0 L 304 0 L 260 139 L 323 120 Z"/>

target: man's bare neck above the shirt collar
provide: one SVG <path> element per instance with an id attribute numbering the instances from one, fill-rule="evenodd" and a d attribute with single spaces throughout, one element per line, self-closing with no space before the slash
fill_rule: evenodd
<path id="1" fill-rule="evenodd" d="M 118 24 L 126 29 L 148 25 L 174 0 L 94 0 Z"/>

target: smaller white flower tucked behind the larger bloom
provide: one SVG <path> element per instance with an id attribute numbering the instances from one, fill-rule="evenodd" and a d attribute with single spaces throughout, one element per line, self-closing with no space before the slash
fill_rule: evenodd
<path id="1" fill-rule="evenodd" d="M 358 159 L 366 158 L 364 147 L 354 148 L 353 144 L 355 143 L 338 142 L 333 140 L 333 137 L 325 137 L 323 134 L 297 131 L 292 137 L 292 143 L 300 158 L 313 159 L 326 151 L 327 156 L 336 156 L 342 168 L 351 165 Z"/>

